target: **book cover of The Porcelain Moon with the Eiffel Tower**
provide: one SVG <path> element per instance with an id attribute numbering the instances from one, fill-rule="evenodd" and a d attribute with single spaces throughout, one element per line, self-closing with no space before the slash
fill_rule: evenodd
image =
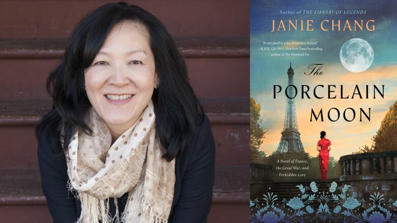
<path id="1" fill-rule="evenodd" d="M 250 222 L 397 221 L 397 3 L 250 2 Z"/>

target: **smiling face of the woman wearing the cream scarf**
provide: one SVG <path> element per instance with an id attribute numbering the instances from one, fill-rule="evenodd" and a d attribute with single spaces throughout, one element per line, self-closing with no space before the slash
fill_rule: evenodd
<path id="1" fill-rule="evenodd" d="M 91 66 L 84 71 L 88 98 L 118 138 L 138 119 L 158 84 L 145 26 L 115 24 Z"/>

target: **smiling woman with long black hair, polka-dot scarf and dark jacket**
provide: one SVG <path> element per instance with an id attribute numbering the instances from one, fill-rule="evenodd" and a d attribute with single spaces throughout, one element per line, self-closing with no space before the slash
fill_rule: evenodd
<path id="1" fill-rule="evenodd" d="M 164 25 L 126 3 L 75 27 L 36 129 L 54 222 L 206 222 L 215 145 Z"/>

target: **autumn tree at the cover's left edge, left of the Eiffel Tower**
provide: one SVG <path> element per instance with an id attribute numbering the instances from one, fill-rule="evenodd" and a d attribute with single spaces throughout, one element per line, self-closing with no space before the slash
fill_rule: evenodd
<path id="1" fill-rule="evenodd" d="M 260 162 L 261 158 L 266 156 L 263 151 L 259 151 L 262 145 L 265 131 L 260 123 L 262 122 L 261 116 L 261 105 L 255 102 L 255 100 L 250 97 L 249 99 L 249 150 L 251 153 L 251 163 Z M 262 153 L 260 153 L 262 152 Z"/>

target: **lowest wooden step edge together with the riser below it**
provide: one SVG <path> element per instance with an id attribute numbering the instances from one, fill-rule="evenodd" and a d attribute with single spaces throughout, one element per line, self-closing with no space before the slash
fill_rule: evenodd
<path id="1" fill-rule="evenodd" d="M 249 166 L 215 168 L 213 208 L 209 222 L 217 222 L 216 210 L 248 208 Z M 20 214 L 23 211 L 25 214 Z M 240 214 L 248 218 L 248 213 Z M 51 222 L 37 168 L 0 169 L 0 216 L 2 222 Z M 241 216 L 240 216 L 241 217 Z"/>

